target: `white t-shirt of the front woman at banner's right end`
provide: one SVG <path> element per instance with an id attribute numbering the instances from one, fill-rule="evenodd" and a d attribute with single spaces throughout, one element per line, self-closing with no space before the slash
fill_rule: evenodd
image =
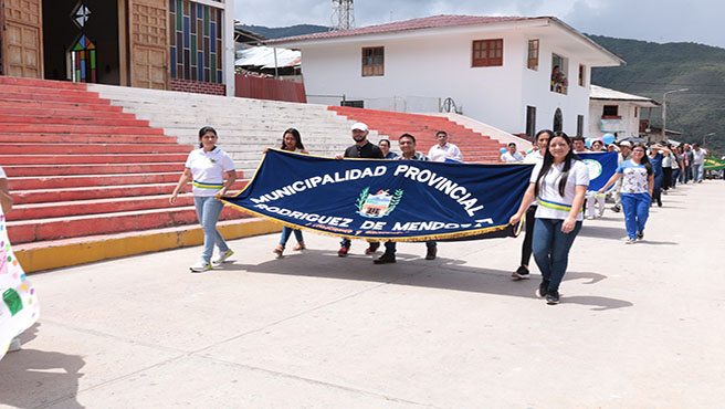
<path id="1" fill-rule="evenodd" d="M 532 172 L 530 182 L 535 183 L 538 174 L 542 171 L 542 165 L 538 162 Z M 537 219 L 566 219 L 571 210 L 577 186 L 589 186 L 589 169 L 581 160 L 574 160 L 569 168 L 564 197 L 559 195 L 559 177 L 561 176 L 564 164 L 551 166 L 549 171 L 539 181 L 538 209 L 536 209 Z M 584 213 L 577 213 L 577 220 L 584 220 Z"/>

